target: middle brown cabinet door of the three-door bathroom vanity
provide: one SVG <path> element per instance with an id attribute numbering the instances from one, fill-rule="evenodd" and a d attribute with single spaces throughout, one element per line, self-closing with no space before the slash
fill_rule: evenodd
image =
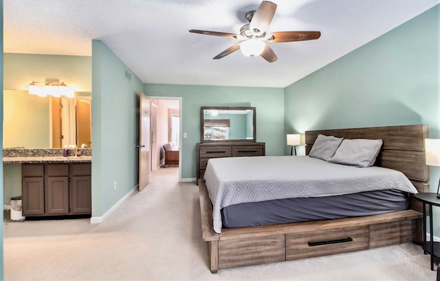
<path id="1" fill-rule="evenodd" d="M 69 177 L 47 177 L 46 213 L 69 213 Z"/>

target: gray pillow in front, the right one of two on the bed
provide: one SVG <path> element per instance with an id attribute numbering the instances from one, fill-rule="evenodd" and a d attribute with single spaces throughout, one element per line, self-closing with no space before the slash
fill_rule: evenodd
<path id="1" fill-rule="evenodd" d="M 329 162 L 358 167 L 373 166 L 382 139 L 344 139 Z"/>

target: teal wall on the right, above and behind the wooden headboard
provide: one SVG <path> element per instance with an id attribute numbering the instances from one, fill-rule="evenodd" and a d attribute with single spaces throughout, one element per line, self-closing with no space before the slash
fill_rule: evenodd
<path id="1" fill-rule="evenodd" d="M 437 5 L 286 87 L 285 131 L 428 124 L 439 138 L 439 28 Z M 432 192 L 439 177 L 430 167 Z"/>

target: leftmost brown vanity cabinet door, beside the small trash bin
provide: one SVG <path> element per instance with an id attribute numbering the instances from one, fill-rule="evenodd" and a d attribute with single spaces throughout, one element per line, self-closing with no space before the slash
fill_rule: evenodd
<path id="1" fill-rule="evenodd" d="M 25 177 L 22 181 L 23 216 L 44 214 L 44 178 Z"/>

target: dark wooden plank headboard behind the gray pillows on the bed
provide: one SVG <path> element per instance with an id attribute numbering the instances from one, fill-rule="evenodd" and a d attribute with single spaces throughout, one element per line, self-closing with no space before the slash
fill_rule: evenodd
<path id="1" fill-rule="evenodd" d="M 306 155 L 309 155 L 319 134 L 347 139 L 382 139 L 382 149 L 375 166 L 399 170 L 410 179 L 419 192 L 429 191 L 429 169 L 425 164 L 424 139 L 428 137 L 428 125 L 384 126 L 346 128 L 305 132 Z M 410 207 L 421 212 L 421 203 L 411 200 Z"/>

